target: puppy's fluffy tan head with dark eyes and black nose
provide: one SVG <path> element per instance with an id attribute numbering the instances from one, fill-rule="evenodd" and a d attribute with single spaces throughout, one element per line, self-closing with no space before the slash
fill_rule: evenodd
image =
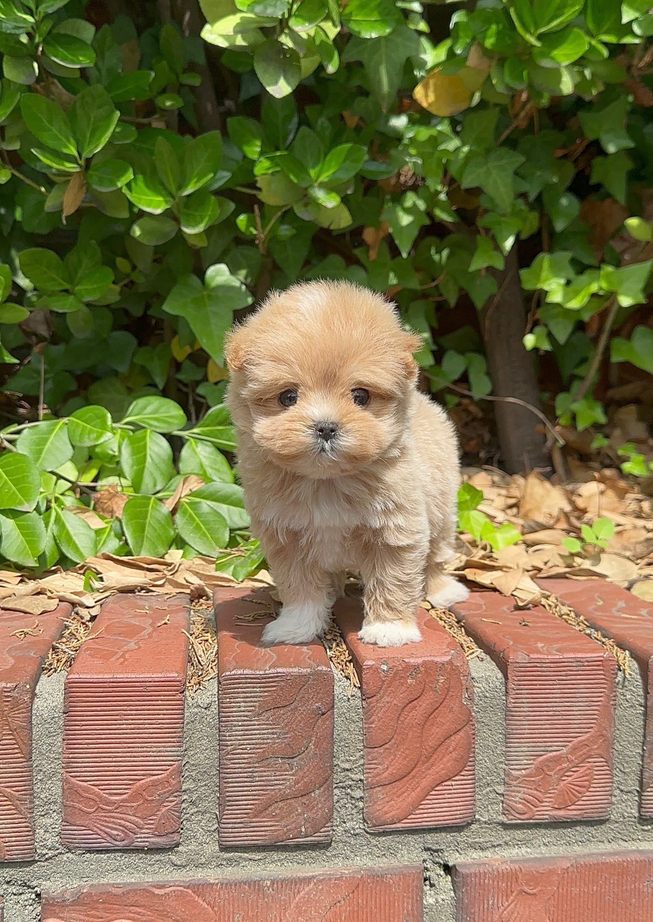
<path id="1" fill-rule="evenodd" d="M 297 285 L 229 337 L 227 403 L 268 460 L 339 477 L 398 443 L 420 346 L 380 295 L 346 282 Z"/>

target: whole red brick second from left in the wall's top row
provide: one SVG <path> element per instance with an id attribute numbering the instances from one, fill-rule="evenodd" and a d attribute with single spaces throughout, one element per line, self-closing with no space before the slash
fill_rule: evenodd
<path id="1" fill-rule="evenodd" d="M 114 596 L 65 680 L 62 841 L 179 842 L 188 598 Z"/>

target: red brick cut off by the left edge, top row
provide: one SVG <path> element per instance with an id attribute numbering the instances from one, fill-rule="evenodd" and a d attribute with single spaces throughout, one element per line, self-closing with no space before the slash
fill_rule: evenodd
<path id="1" fill-rule="evenodd" d="M 0 610 L 0 862 L 35 854 L 31 706 L 43 660 L 68 614 L 65 604 L 38 619 Z M 32 628 L 33 635 L 17 636 Z"/>

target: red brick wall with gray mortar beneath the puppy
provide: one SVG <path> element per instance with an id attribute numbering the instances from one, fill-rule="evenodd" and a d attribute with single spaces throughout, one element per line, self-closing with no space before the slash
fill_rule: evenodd
<path id="1" fill-rule="evenodd" d="M 550 588 L 628 676 L 493 593 L 456 609 L 469 662 L 425 611 L 421 644 L 361 644 L 339 601 L 358 691 L 225 591 L 193 698 L 184 596 L 108 601 L 65 679 L 64 609 L 0 611 L 0 922 L 651 922 L 653 607 Z"/>

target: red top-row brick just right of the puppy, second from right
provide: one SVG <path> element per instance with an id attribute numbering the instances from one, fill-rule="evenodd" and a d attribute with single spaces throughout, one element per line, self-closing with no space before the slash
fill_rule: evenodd
<path id="1" fill-rule="evenodd" d="M 454 610 L 505 675 L 505 820 L 608 817 L 614 657 L 545 609 L 514 610 L 498 593 L 473 593 Z"/>

